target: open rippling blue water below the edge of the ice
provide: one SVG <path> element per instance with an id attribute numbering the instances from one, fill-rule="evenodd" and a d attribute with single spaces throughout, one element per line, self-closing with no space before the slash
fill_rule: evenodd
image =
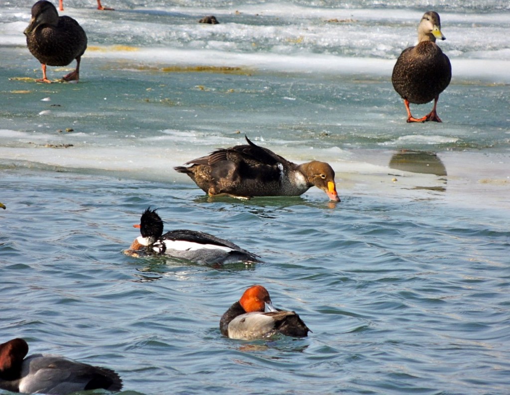
<path id="1" fill-rule="evenodd" d="M 195 188 L 3 170 L 2 339 L 110 366 L 166 393 L 505 393 L 508 213 L 320 195 L 207 202 Z M 148 205 L 166 229 L 235 240 L 223 269 L 122 254 Z M 222 338 L 244 288 L 295 309 L 305 339 Z"/>

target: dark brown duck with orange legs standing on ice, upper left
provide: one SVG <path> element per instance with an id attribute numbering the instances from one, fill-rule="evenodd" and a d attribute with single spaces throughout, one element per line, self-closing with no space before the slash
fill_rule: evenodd
<path id="1" fill-rule="evenodd" d="M 37 82 L 51 82 L 46 78 L 46 65 L 67 66 L 74 59 L 76 69 L 63 79 L 80 79 L 80 60 L 87 49 L 87 35 L 77 21 L 69 16 L 59 17 L 52 3 L 41 0 L 32 6 L 32 19 L 23 33 L 30 52 L 42 65 L 42 79 Z"/>

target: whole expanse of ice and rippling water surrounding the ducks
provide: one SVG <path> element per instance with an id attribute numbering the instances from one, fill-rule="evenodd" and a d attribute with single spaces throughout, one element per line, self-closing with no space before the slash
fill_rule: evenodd
<path id="1" fill-rule="evenodd" d="M 428 3 L 103 3 L 64 0 L 89 48 L 51 85 L 32 2 L 0 6 L 0 342 L 113 368 L 126 394 L 508 392 L 507 2 L 435 4 L 453 79 L 444 122 L 417 125 L 390 76 Z M 329 162 L 342 202 L 209 200 L 172 168 L 244 134 Z M 148 206 L 264 262 L 126 256 Z M 313 333 L 223 338 L 256 283 Z"/>

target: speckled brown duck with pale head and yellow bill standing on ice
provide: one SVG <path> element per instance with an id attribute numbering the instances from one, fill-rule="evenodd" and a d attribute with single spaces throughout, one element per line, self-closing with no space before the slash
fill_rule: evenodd
<path id="1" fill-rule="evenodd" d="M 407 122 L 441 122 L 436 106 L 439 94 L 451 80 L 451 65 L 448 57 L 436 45 L 436 39 L 445 39 L 441 33 L 439 14 L 428 11 L 418 26 L 418 44 L 406 48 L 393 68 L 391 82 L 404 100 Z M 409 103 L 423 104 L 434 101 L 432 111 L 422 118 L 411 115 Z"/>

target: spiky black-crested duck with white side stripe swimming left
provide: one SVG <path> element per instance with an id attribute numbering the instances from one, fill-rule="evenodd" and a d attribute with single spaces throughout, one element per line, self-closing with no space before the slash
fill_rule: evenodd
<path id="1" fill-rule="evenodd" d="M 257 255 L 208 233 L 181 229 L 163 234 L 163 221 L 150 207 L 143 212 L 140 225 L 133 226 L 140 228 L 141 236 L 131 244 L 132 251 L 145 249 L 151 254 L 166 254 L 205 264 L 260 262 Z"/>

